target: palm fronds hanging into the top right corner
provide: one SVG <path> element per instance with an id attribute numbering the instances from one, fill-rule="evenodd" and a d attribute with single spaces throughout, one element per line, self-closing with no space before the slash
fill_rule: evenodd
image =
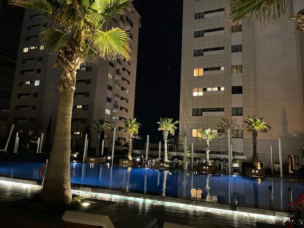
<path id="1" fill-rule="evenodd" d="M 238 23 L 243 18 L 264 23 L 276 21 L 286 14 L 290 2 L 289 0 L 230 0 L 227 20 L 230 23 Z M 304 9 L 289 19 L 296 21 L 297 28 L 301 32 L 304 30 Z"/>

